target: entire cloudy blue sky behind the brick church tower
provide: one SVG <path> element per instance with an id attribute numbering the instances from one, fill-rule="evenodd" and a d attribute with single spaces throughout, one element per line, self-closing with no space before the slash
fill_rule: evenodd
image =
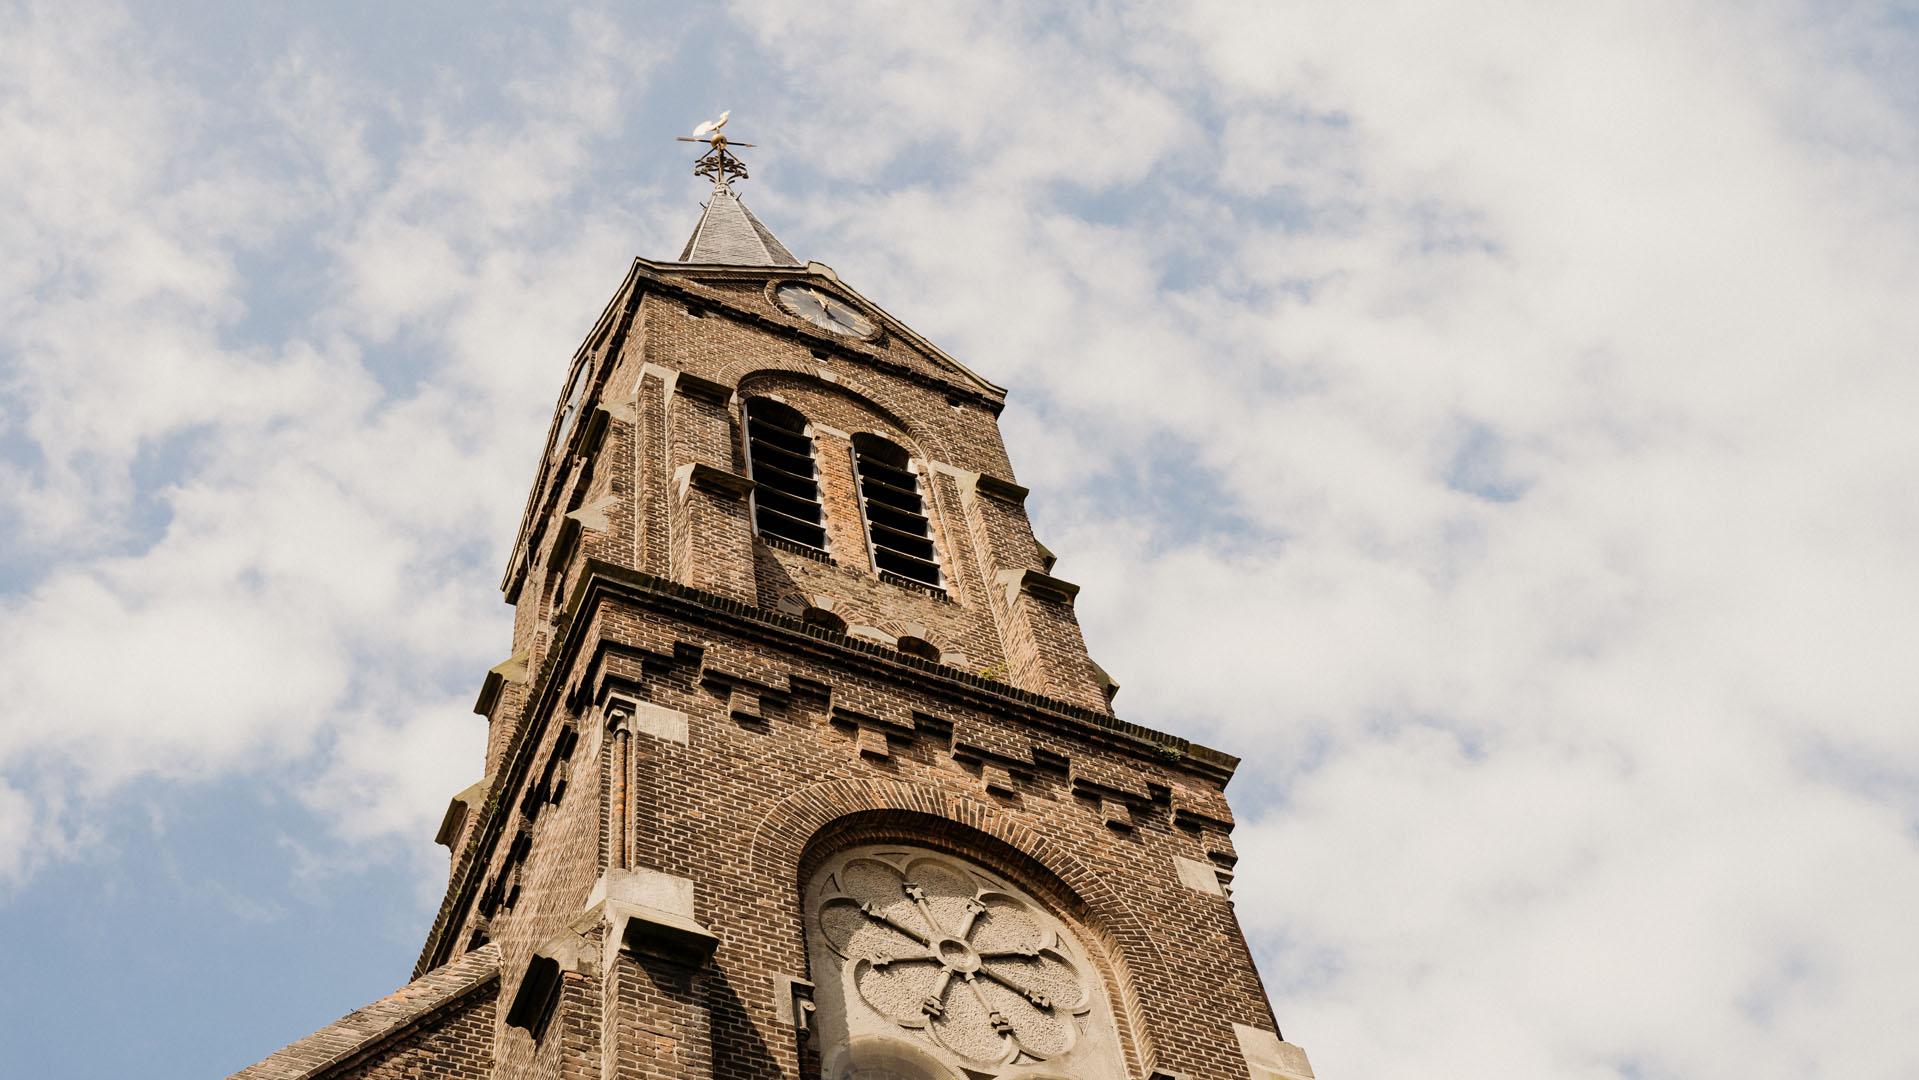
<path id="1" fill-rule="evenodd" d="M 1245 756 L 1322 1074 L 1919 1072 L 1915 69 L 1875 4 L 0 4 L 0 1061 L 405 978 L 564 363 L 733 109 L 1013 389 L 1121 714 Z"/>

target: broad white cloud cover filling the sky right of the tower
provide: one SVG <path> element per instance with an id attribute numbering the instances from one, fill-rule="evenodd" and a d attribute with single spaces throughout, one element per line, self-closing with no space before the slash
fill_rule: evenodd
<path id="1" fill-rule="evenodd" d="M 1326 1074 L 1915 1067 L 1919 117 L 1852 67 L 1892 27 L 1817 15 L 1082 13 L 1019 90 L 958 59 L 1017 29 L 892 17 L 862 56 L 936 106 L 810 82 L 1019 130 L 1132 69 L 1220 132 L 1220 175 L 1096 169 L 1148 176 L 1109 224 L 1069 155 L 1007 188 L 965 140 L 814 213 L 1015 387 L 1123 714 L 1257 748 L 1242 915 Z M 766 40 L 816 73 L 827 31 Z"/>

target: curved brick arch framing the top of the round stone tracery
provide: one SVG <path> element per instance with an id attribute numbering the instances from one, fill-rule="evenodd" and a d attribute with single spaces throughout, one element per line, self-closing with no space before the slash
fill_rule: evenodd
<path id="1" fill-rule="evenodd" d="M 948 827 L 946 834 L 900 834 L 896 823 L 910 817 L 933 817 Z M 887 825 L 894 823 L 894 829 Z M 958 836 L 950 833 L 958 827 Z M 1128 1067 L 1153 1059 L 1153 1032 L 1146 1024 L 1140 998 L 1132 986 L 1134 961 L 1144 961 L 1165 973 L 1159 936 L 1103 877 L 1094 873 L 1067 844 L 1034 829 L 1015 815 L 984 802 L 952 792 L 890 779 L 835 779 L 793 790 L 779 800 L 752 834 L 752 873 L 756 880 L 785 882 L 793 896 L 806 886 L 819 861 L 833 852 L 873 840 L 912 838 L 929 848 L 952 848 L 956 854 L 1002 863 L 1006 854 L 1019 865 L 1002 865 L 1034 896 L 1061 905 L 1077 923 L 1102 940 L 1109 953 L 1115 1019 L 1121 1022 L 1123 1051 Z M 967 844 L 967 834 L 986 844 Z"/>

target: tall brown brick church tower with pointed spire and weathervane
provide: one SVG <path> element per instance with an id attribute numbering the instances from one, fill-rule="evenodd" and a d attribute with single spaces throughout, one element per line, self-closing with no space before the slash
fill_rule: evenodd
<path id="1" fill-rule="evenodd" d="M 1113 716 L 1004 389 L 697 134 L 693 238 L 566 370 L 416 978 L 240 1076 L 1309 1078 L 1238 762 Z"/>

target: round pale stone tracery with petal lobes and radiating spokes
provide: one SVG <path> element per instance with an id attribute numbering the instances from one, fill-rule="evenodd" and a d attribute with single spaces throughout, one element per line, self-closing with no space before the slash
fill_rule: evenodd
<path id="1" fill-rule="evenodd" d="M 819 932 L 877 1013 L 973 1063 L 1073 1049 L 1090 1007 L 1050 919 L 935 857 L 858 856 L 825 880 Z"/>

